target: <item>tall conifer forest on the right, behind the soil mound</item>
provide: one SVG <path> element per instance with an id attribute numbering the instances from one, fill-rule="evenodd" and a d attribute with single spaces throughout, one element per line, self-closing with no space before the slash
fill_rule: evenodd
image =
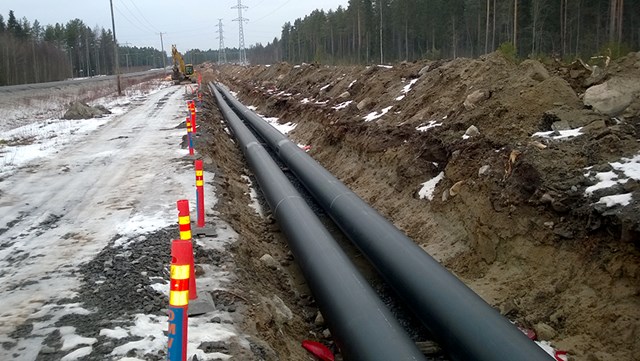
<path id="1" fill-rule="evenodd" d="M 640 48 L 640 0 L 350 0 L 287 22 L 252 63 L 375 63 L 477 57 L 564 59 Z M 607 54 L 609 55 L 609 54 Z"/>

